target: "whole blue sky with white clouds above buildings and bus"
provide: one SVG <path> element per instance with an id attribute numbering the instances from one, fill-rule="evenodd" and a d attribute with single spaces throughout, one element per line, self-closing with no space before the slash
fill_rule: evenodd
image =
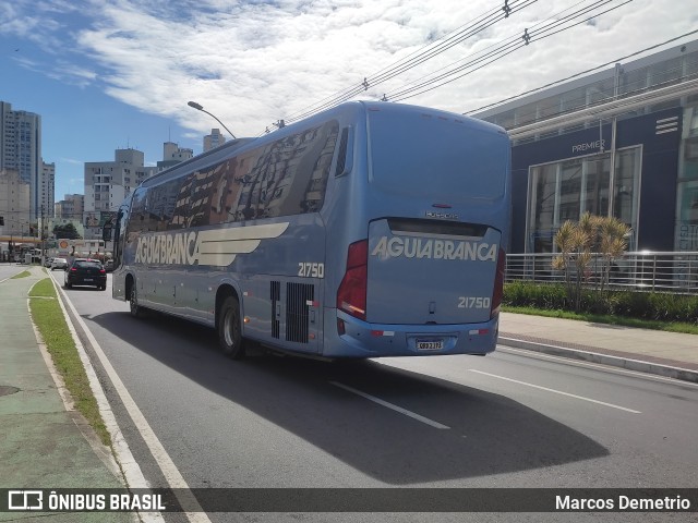
<path id="1" fill-rule="evenodd" d="M 58 202 L 116 149 L 229 137 L 190 100 L 238 137 L 339 98 L 462 113 L 696 32 L 698 0 L 4 0 L 0 100 L 41 117 Z"/>

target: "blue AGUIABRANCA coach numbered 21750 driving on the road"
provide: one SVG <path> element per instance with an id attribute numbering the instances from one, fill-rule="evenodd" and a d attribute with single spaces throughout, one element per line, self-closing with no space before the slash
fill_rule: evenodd
<path id="1" fill-rule="evenodd" d="M 115 223 L 112 296 L 320 358 L 495 348 L 510 219 L 495 125 L 351 101 L 145 180 Z"/>

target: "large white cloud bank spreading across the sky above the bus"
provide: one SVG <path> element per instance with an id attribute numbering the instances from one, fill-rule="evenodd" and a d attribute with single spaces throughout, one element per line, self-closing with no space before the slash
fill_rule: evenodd
<path id="1" fill-rule="evenodd" d="M 533 2 L 399 76 L 371 85 L 358 97 L 378 99 L 399 92 L 464 64 L 489 46 L 518 40 L 525 29 L 553 24 L 593 3 Z M 696 26 L 696 10 L 688 5 L 694 2 L 623 3 L 610 2 L 603 9 L 615 9 L 593 21 L 534 38 L 498 61 L 464 71 L 467 74 L 460 78 L 406 101 L 465 112 Z M 207 133 L 216 123 L 186 107 L 186 101 L 195 100 L 237 135 L 261 134 L 272 122 L 359 86 L 364 77 L 424 51 L 484 13 L 498 13 L 502 7 L 489 0 L 95 0 L 44 1 L 31 11 L 35 14 L 19 16 L 31 3 L 20 0 L 16 5 L 1 9 L 0 31 L 34 41 L 40 37 L 51 52 L 63 46 L 61 60 L 53 61 L 46 74 L 82 86 L 96 84 L 124 104 Z M 32 36 L 35 32 L 37 36 Z"/>

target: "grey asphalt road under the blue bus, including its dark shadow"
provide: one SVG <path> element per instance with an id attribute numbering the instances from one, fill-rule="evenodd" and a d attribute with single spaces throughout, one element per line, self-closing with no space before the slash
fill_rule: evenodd
<path id="1" fill-rule="evenodd" d="M 62 283 L 62 273 L 52 276 Z M 328 364 L 261 354 L 232 362 L 218 352 L 212 330 L 159 315 L 132 318 L 110 290 L 109 281 L 106 292 L 65 294 L 190 487 L 698 486 L 695 385 L 507 348 L 486 357 Z M 96 367 L 145 477 L 168 486 L 169 471 L 153 458 L 148 436 Z M 292 519 L 425 521 L 421 515 Z M 531 515 L 506 520 L 600 519 Z M 269 513 L 207 516 L 289 521 Z M 640 516 L 604 513 L 603 521 Z M 442 513 L 429 521 L 502 519 Z"/>

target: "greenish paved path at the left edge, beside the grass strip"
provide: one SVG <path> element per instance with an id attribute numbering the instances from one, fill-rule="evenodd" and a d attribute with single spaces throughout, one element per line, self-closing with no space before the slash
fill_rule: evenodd
<path id="1" fill-rule="evenodd" d="M 36 340 L 27 294 L 47 275 L 38 266 L 14 267 L 0 272 L 0 488 L 122 488 L 110 451 L 82 415 L 67 410 Z M 31 276 L 7 279 L 24 270 Z M 125 512 L 0 512 L 0 521 L 47 515 L 51 522 L 134 520 Z"/>

